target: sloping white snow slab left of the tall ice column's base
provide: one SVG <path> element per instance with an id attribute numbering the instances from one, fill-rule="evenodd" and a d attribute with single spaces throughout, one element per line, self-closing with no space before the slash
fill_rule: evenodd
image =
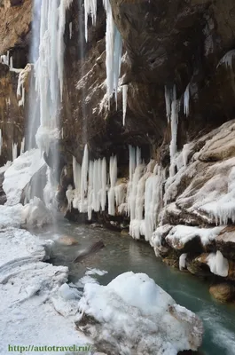
<path id="1" fill-rule="evenodd" d="M 32 149 L 20 155 L 4 173 L 4 193 L 9 206 L 20 202 L 21 193 L 31 177 L 44 164 L 39 149 Z"/>

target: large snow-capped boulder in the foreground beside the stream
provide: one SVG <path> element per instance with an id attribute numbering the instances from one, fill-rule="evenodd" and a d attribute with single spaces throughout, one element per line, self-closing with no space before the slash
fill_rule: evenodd
<path id="1" fill-rule="evenodd" d="M 144 273 L 125 272 L 107 286 L 86 284 L 79 309 L 78 327 L 98 351 L 112 355 L 176 355 L 202 342 L 200 319 Z"/>

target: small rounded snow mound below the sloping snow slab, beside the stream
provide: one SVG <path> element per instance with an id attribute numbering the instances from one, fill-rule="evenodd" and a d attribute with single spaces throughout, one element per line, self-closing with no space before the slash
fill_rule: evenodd
<path id="1" fill-rule="evenodd" d="M 34 197 L 24 206 L 22 218 L 27 226 L 42 227 L 43 225 L 50 225 L 54 217 L 43 201 Z"/>

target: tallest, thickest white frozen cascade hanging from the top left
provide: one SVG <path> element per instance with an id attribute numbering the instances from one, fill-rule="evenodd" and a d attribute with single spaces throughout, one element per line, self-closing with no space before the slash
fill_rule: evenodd
<path id="1" fill-rule="evenodd" d="M 38 6 L 37 2 L 35 4 Z M 41 126 L 36 133 L 36 143 L 42 151 L 48 151 L 51 141 L 58 138 L 58 88 L 60 88 L 60 99 L 62 99 L 64 31 L 66 10 L 70 4 L 71 0 L 43 0 L 41 7 L 39 58 L 35 63 L 35 89 L 40 102 Z"/>

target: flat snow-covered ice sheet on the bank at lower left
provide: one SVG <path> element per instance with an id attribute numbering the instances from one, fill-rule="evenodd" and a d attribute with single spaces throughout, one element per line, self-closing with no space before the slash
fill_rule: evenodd
<path id="1" fill-rule="evenodd" d="M 8 351 L 8 344 L 87 343 L 74 327 L 73 300 L 60 302 L 59 287 L 67 282 L 67 267 L 43 263 L 44 257 L 43 246 L 31 233 L 17 228 L 0 231 L 1 354 Z"/>

